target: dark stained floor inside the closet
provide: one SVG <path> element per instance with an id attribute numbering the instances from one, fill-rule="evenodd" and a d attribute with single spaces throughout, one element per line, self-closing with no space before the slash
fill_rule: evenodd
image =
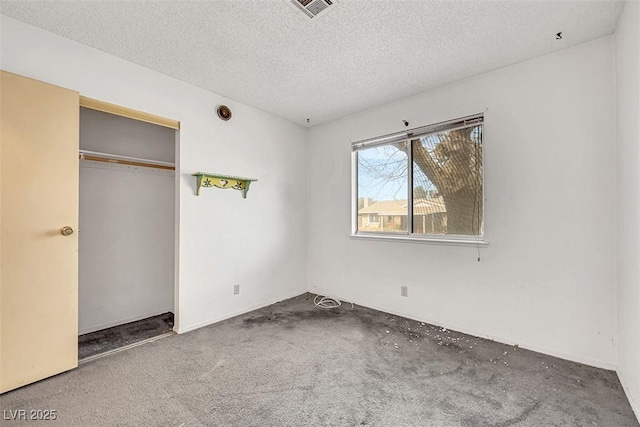
<path id="1" fill-rule="evenodd" d="M 78 337 L 78 359 L 115 350 L 173 330 L 173 313 L 164 313 Z"/>

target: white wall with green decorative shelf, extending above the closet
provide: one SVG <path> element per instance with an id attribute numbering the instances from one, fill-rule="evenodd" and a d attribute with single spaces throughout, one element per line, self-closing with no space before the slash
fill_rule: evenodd
<path id="1" fill-rule="evenodd" d="M 177 329 L 306 290 L 305 129 L 163 74 L 2 16 L 2 69 L 179 120 Z M 229 122 L 216 116 L 224 103 Z M 195 195 L 197 171 L 258 178 Z M 233 295 L 233 284 L 241 293 Z"/>

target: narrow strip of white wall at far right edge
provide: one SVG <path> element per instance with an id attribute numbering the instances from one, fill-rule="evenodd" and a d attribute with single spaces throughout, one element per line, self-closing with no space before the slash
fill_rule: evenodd
<path id="1" fill-rule="evenodd" d="M 618 118 L 618 375 L 640 418 L 640 3 L 616 32 Z"/>

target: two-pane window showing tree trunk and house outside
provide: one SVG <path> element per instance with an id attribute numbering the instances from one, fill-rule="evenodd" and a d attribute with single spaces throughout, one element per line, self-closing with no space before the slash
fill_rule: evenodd
<path id="1" fill-rule="evenodd" d="M 483 116 L 352 144 L 356 235 L 482 240 Z"/>

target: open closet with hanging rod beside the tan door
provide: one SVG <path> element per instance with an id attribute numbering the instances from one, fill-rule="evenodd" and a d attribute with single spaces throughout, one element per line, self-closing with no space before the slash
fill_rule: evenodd
<path id="1" fill-rule="evenodd" d="M 178 130 L 118 108 L 80 108 L 80 361 L 174 333 Z"/>

